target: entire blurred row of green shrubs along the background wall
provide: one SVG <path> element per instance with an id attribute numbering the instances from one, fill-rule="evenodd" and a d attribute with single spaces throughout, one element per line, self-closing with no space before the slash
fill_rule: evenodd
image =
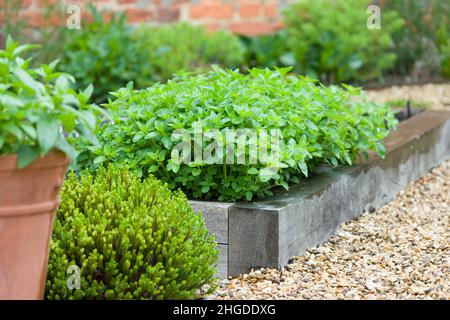
<path id="1" fill-rule="evenodd" d="M 80 86 L 94 83 L 100 103 L 129 81 L 143 88 L 211 64 L 243 71 L 291 66 L 324 83 L 358 85 L 392 76 L 450 77 L 448 1 L 380 1 L 381 29 L 367 27 L 369 2 L 302 0 L 284 11 L 284 30 L 259 37 L 207 33 L 187 24 L 135 28 L 123 16 L 104 21 L 92 6 L 94 19 L 81 30 L 42 31 L 44 50 L 35 58 L 61 59 L 61 70 L 74 74 Z M 4 33 L 19 29 L 3 26 Z"/>

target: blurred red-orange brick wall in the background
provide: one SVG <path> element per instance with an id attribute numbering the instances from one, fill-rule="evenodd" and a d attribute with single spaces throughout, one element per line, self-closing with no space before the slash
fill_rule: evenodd
<path id="1" fill-rule="evenodd" d="M 0 0 L 0 6 L 6 0 Z M 14 0 L 9 0 L 14 1 Z M 31 27 L 64 23 L 64 15 L 45 15 L 45 7 L 61 8 L 61 0 L 22 1 L 20 20 Z M 62 0 L 76 4 L 82 17 L 86 0 Z M 131 23 L 170 23 L 176 21 L 204 25 L 209 30 L 228 29 L 245 35 L 257 35 L 282 28 L 280 10 L 292 0 L 97 0 L 99 9 L 125 12 Z M 0 17 L 1 19 L 1 17 Z"/>

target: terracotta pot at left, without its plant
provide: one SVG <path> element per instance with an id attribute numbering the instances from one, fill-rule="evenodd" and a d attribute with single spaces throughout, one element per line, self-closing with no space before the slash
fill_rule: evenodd
<path id="1" fill-rule="evenodd" d="M 51 152 L 24 169 L 16 161 L 0 156 L 0 299 L 42 299 L 69 159 Z"/>

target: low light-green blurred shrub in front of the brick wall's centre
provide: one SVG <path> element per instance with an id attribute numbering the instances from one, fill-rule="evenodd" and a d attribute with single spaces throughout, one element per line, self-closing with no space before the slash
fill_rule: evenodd
<path id="1" fill-rule="evenodd" d="M 239 39 L 225 31 L 206 33 L 187 23 L 142 26 L 135 34 L 140 50 L 147 52 L 158 80 L 181 70 L 205 69 L 211 64 L 236 67 L 243 61 Z"/>

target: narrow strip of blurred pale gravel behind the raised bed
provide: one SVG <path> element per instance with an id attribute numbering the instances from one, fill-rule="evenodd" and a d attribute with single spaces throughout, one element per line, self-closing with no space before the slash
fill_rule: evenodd
<path id="1" fill-rule="evenodd" d="M 450 83 L 393 86 L 382 90 L 368 90 L 367 96 L 375 102 L 406 99 L 412 100 L 413 104 L 414 102 L 426 102 L 433 109 L 448 109 L 450 107 Z"/>

